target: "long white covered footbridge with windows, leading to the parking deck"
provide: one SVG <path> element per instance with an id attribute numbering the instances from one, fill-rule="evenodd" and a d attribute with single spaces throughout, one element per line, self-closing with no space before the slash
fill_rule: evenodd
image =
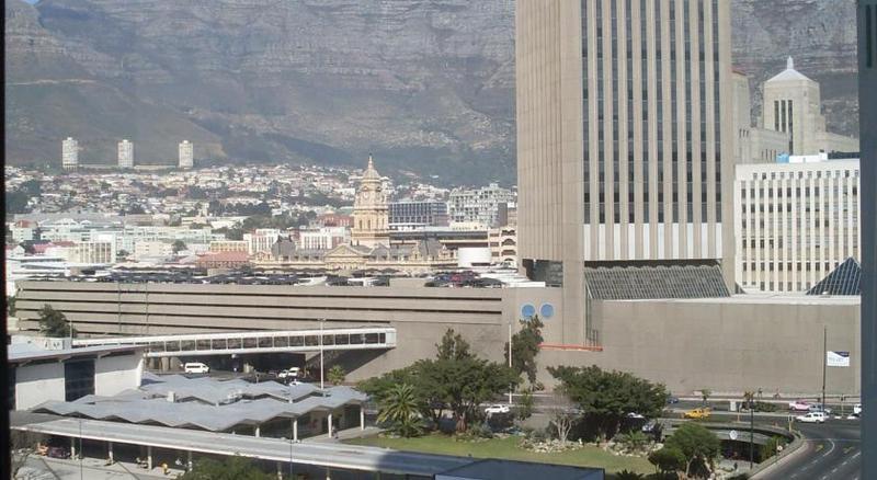
<path id="1" fill-rule="evenodd" d="M 288 330 L 262 332 L 194 333 L 187 335 L 117 336 L 76 339 L 75 346 L 143 345 L 146 356 L 197 356 L 244 353 L 304 353 L 348 350 L 389 350 L 396 347 L 396 329 L 364 327 L 353 329 Z"/>

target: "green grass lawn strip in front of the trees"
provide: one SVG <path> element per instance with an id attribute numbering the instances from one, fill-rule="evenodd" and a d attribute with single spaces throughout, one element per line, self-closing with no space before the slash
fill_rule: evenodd
<path id="1" fill-rule="evenodd" d="M 383 438 L 371 436 L 355 438 L 346 443 L 387 447 L 396 450 L 423 452 L 483 458 L 505 458 L 510 460 L 540 461 L 544 464 L 574 465 L 578 467 L 604 468 L 607 473 L 619 470 L 631 470 L 640 473 L 652 473 L 654 467 L 649 460 L 637 457 L 616 457 L 597 447 L 585 445 L 578 450 L 557 454 L 538 454 L 517 446 L 520 437 L 491 438 L 486 442 L 457 442 L 443 434 L 432 434 L 418 438 Z"/>

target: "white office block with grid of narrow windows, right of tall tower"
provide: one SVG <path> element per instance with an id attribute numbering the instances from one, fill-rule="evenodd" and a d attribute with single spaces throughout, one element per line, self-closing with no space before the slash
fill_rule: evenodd
<path id="1" fill-rule="evenodd" d="M 738 284 L 802 292 L 846 259 L 861 260 L 859 180 L 858 160 L 738 165 Z"/>

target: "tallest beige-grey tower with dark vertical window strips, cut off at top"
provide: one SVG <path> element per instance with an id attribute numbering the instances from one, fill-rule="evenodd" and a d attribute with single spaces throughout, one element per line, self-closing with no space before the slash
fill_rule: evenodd
<path id="1" fill-rule="evenodd" d="M 567 308 L 582 261 L 719 259 L 732 282 L 729 3 L 517 2 L 519 256 Z"/>

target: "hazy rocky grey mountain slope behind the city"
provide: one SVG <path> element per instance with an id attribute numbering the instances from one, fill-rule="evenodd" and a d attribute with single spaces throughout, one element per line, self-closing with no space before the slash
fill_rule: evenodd
<path id="1" fill-rule="evenodd" d="M 733 0 L 753 87 L 786 55 L 856 128 L 855 0 Z M 770 7 L 767 7 L 770 5 Z M 360 164 L 514 181 L 513 0 L 8 0 L 7 158 Z M 756 89 L 753 89 L 756 90 Z M 209 159 L 209 160 L 207 160 Z"/>

